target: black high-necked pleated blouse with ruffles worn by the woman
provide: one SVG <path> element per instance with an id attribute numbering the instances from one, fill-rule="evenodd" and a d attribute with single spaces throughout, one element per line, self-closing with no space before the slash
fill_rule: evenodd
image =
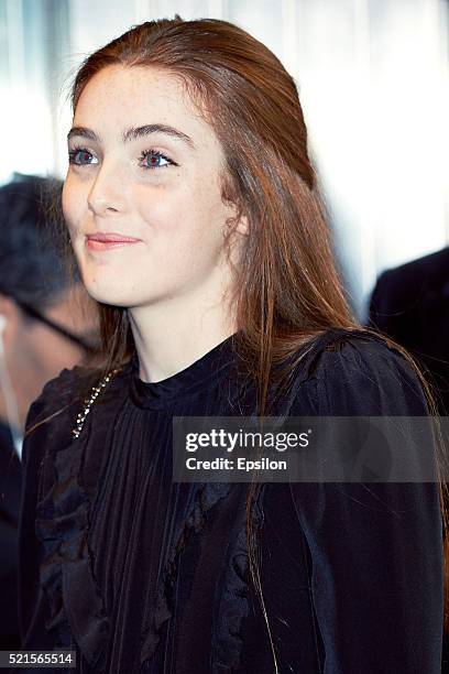
<path id="1" fill-rule="evenodd" d="M 173 416 L 251 413 L 232 345 L 155 383 L 134 357 L 78 437 L 77 391 L 95 371 L 63 370 L 33 403 L 29 430 L 54 416 L 23 450 L 22 648 L 72 648 L 76 671 L 92 674 L 439 674 L 436 485 L 264 483 L 253 511 L 262 610 L 249 485 L 172 481 Z M 405 359 L 363 330 L 316 339 L 284 402 L 295 416 L 427 414 Z"/>

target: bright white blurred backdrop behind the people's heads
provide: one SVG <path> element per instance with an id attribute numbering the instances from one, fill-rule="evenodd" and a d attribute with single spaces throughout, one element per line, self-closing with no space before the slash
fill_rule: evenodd
<path id="1" fill-rule="evenodd" d="M 212 17 L 295 78 L 359 318 L 376 276 L 449 240 L 448 0 L 0 0 L 0 184 L 64 177 L 69 83 L 133 23 Z"/>

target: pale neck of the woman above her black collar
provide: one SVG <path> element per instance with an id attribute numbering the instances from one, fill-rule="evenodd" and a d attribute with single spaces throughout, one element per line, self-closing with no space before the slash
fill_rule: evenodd
<path id="1" fill-rule="evenodd" d="M 140 362 L 146 382 L 167 379 L 237 331 L 223 302 L 195 296 L 173 297 L 162 305 L 129 309 Z"/>

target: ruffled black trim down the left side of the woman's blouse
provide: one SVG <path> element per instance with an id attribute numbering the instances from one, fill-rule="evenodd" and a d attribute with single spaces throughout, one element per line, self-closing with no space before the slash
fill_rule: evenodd
<path id="1" fill-rule="evenodd" d="M 68 371 L 64 374 L 67 377 Z M 81 391 L 92 385 L 89 374 L 88 379 L 84 377 Z M 70 406 L 70 415 L 64 420 L 70 420 L 72 426 L 64 424 L 57 444 L 50 447 L 54 454 L 46 457 L 46 463 L 51 458 L 53 475 L 43 480 L 53 479 L 53 485 L 36 506 L 35 531 L 45 552 L 41 565 L 41 585 L 50 606 L 45 627 L 57 634 L 56 649 L 74 648 L 75 639 L 86 661 L 97 666 L 108 638 L 108 618 L 87 545 L 89 500 L 80 482 L 86 436 L 72 436 L 80 403 L 78 396 L 77 405 Z"/>

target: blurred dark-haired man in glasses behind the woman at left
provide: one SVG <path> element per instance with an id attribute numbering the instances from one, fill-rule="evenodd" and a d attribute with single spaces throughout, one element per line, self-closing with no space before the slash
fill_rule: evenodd
<path id="1" fill-rule="evenodd" d="M 89 360 L 97 341 L 92 304 L 66 271 L 62 222 L 50 221 L 61 189 L 34 176 L 0 187 L 0 650 L 20 648 L 15 555 L 26 413 L 45 382 Z"/>

